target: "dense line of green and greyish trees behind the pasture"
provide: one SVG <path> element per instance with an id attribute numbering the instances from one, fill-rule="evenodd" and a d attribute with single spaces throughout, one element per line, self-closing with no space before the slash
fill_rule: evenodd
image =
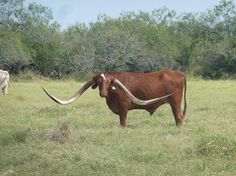
<path id="1" fill-rule="evenodd" d="M 208 79 L 236 77 L 236 8 L 221 0 L 205 12 L 168 8 L 99 15 L 65 30 L 52 11 L 24 0 L 0 1 L 0 68 L 44 76 L 110 71 L 182 70 Z"/>

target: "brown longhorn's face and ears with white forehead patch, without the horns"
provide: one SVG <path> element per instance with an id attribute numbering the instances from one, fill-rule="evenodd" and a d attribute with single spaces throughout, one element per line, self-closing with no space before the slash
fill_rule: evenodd
<path id="1" fill-rule="evenodd" d="M 92 88 L 95 89 L 98 87 L 100 96 L 107 97 L 110 89 L 114 89 L 114 86 L 112 86 L 113 80 L 114 77 L 111 75 L 105 75 L 104 73 L 98 74 L 93 77 L 94 84 Z"/>

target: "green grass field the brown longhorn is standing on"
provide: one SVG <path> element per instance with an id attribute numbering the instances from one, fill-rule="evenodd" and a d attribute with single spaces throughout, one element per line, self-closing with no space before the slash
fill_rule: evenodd
<path id="1" fill-rule="evenodd" d="M 82 83 L 13 82 L 0 95 L 0 176 L 236 174 L 236 81 L 188 81 L 182 127 L 164 105 L 121 128 L 98 90 L 61 106 L 41 85 L 68 98 Z"/>

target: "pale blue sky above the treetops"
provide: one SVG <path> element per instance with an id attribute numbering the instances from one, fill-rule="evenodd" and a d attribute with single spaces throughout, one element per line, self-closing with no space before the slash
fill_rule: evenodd
<path id="1" fill-rule="evenodd" d="M 76 22 L 95 22 L 100 14 L 117 18 L 123 12 L 151 12 L 163 7 L 178 14 L 204 12 L 219 4 L 220 0 L 25 0 L 26 4 L 32 2 L 49 7 L 54 20 L 65 29 Z"/>

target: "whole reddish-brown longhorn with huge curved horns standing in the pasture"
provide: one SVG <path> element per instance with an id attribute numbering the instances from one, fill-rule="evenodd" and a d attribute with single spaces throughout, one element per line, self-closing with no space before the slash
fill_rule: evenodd
<path id="1" fill-rule="evenodd" d="M 126 125 L 127 113 L 132 109 L 144 109 L 152 115 L 160 105 L 169 103 L 176 125 L 182 124 L 186 113 L 186 77 L 179 71 L 97 74 L 68 100 L 60 100 L 42 88 L 53 101 L 66 105 L 79 98 L 91 86 L 93 89 L 99 88 L 100 96 L 106 98 L 108 107 L 119 115 L 121 126 Z"/>

